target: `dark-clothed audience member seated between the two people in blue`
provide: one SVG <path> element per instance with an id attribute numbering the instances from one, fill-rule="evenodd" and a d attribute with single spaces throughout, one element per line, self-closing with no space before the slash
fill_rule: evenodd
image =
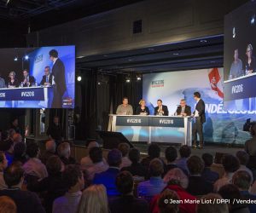
<path id="1" fill-rule="evenodd" d="M 136 179 L 143 180 L 144 177 L 147 176 L 148 170 L 139 162 L 141 153 L 136 148 L 132 148 L 129 152 L 129 158 L 131 160 L 131 166 L 122 168 L 122 171 L 127 170 L 131 172 L 131 175 L 135 176 Z"/>

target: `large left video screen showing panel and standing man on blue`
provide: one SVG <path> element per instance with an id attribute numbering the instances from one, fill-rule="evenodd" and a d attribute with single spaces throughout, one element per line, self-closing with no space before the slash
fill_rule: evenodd
<path id="1" fill-rule="evenodd" d="M 0 107 L 74 107 L 74 46 L 0 49 L 0 61 Z"/>

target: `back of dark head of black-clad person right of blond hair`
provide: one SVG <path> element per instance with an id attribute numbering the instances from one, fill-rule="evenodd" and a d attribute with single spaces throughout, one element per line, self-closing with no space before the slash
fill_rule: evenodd
<path id="1" fill-rule="evenodd" d="M 131 193 L 133 190 L 133 177 L 129 171 L 122 171 L 115 179 L 115 185 L 121 194 Z"/>

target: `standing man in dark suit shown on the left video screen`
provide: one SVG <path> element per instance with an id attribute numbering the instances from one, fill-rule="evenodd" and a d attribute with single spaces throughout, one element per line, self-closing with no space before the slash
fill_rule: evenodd
<path id="1" fill-rule="evenodd" d="M 53 76 L 53 87 L 54 97 L 52 101 L 52 108 L 62 107 L 62 96 L 67 90 L 66 78 L 65 78 L 65 66 L 63 62 L 58 58 L 59 54 L 57 50 L 51 49 L 49 51 L 49 59 L 53 62 L 52 76 Z"/>

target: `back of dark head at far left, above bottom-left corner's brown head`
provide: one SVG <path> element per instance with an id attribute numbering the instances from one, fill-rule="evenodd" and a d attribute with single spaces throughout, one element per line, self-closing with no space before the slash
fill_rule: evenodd
<path id="1" fill-rule="evenodd" d="M 3 173 L 3 179 L 8 187 L 18 185 L 22 181 L 24 170 L 21 164 L 11 164 Z"/>

